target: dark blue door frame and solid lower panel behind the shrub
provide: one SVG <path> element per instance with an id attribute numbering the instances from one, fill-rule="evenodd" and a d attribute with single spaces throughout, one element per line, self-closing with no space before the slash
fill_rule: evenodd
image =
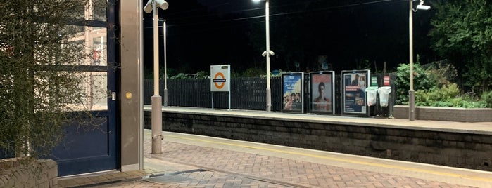
<path id="1" fill-rule="evenodd" d="M 116 62 L 117 42 L 119 36 L 115 29 L 117 9 L 115 0 L 108 0 L 106 9 L 107 21 L 78 20 L 70 25 L 106 28 L 107 39 L 107 66 L 80 66 L 85 72 L 106 72 L 108 94 L 118 90 L 118 62 Z M 118 97 L 118 95 L 115 95 Z M 117 170 L 120 166 L 120 152 L 118 147 L 120 130 L 118 124 L 118 99 L 108 98 L 108 109 L 92 112 L 92 117 L 84 123 L 97 125 L 94 130 L 80 129 L 82 122 L 71 122 L 65 129 L 66 137 L 53 150 L 53 160 L 58 163 L 58 176 L 93 173 L 103 170 Z"/>

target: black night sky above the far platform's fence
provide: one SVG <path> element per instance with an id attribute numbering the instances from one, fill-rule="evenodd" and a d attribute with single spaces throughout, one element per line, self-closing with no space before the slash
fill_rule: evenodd
<path id="1" fill-rule="evenodd" d="M 415 5 L 418 1 L 415 1 Z M 144 0 L 146 3 L 146 0 Z M 178 72 L 232 65 L 233 72 L 265 67 L 265 3 L 251 0 L 168 0 L 159 11 L 168 25 L 168 67 Z M 426 4 L 430 4 L 426 1 Z M 408 63 L 408 0 L 270 0 L 271 69 L 317 71 L 326 55 L 336 72 L 370 67 L 382 72 Z M 434 11 L 417 11 L 414 53 L 422 64 L 438 60 L 429 49 Z M 152 14 L 144 13 L 144 61 L 152 69 Z M 162 24 L 162 22 L 160 22 Z M 160 30 L 160 32 L 162 32 Z M 163 66 L 160 33 L 160 65 Z M 296 67 L 296 63 L 300 65 Z"/>

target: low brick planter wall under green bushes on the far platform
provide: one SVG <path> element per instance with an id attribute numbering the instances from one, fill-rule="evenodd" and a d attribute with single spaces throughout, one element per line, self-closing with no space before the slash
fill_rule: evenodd
<path id="1" fill-rule="evenodd" d="M 408 106 L 393 107 L 393 117 L 408 119 Z M 458 122 L 491 122 L 492 109 L 451 108 L 451 107 L 415 107 L 415 119 Z"/>

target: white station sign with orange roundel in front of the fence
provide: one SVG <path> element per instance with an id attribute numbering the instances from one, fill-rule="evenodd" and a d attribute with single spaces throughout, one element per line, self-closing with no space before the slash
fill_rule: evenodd
<path id="1" fill-rule="evenodd" d="M 210 66 L 210 91 L 230 91 L 231 65 Z"/>

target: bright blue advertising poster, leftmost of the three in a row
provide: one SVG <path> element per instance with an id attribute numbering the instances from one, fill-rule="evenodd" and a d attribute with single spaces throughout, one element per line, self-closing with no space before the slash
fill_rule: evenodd
<path id="1" fill-rule="evenodd" d="M 282 74 L 282 112 L 303 112 L 303 72 Z"/>

